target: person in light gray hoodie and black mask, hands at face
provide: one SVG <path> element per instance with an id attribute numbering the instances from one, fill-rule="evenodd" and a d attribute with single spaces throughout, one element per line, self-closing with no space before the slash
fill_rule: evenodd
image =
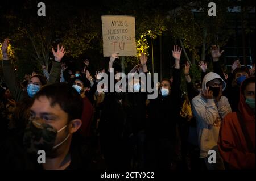
<path id="1" fill-rule="evenodd" d="M 210 72 L 203 78 L 201 92 L 192 99 L 192 112 L 197 120 L 200 158 L 204 159 L 208 170 L 225 169 L 217 146 L 221 120 L 232 112 L 228 99 L 222 96 L 225 88 L 226 83 L 220 75 Z M 216 153 L 216 163 L 212 153 Z"/>

